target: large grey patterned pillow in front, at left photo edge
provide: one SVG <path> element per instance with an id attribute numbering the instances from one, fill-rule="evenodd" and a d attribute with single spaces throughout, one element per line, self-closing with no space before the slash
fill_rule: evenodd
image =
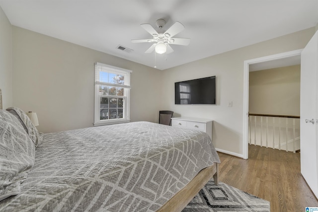
<path id="1" fill-rule="evenodd" d="M 34 143 L 19 120 L 0 110 L 0 201 L 19 194 L 34 160 Z"/>

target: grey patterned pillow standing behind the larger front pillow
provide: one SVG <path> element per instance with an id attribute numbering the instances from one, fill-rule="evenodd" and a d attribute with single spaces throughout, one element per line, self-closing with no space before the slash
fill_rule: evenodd
<path id="1" fill-rule="evenodd" d="M 20 120 L 24 123 L 24 128 L 27 129 L 27 133 L 29 134 L 30 138 L 34 142 L 35 147 L 39 145 L 39 131 L 36 129 L 36 127 L 33 125 L 29 117 L 24 113 L 23 110 L 17 107 L 9 107 L 6 109 L 7 111 L 14 111 L 19 117 Z M 23 126 L 23 125 L 22 125 Z"/>

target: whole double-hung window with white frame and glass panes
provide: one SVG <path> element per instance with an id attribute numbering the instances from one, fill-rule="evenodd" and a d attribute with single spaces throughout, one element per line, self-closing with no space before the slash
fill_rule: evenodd
<path id="1" fill-rule="evenodd" d="M 94 126 L 129 122 L 130 73 L 95 64 Z"/>

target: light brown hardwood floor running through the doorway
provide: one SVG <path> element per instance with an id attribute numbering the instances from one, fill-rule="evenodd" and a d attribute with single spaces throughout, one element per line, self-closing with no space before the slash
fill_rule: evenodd
<path id="1" fill-rule="evenodd" d="M 218 152 L 219 181 L 270 202 L 271 212 L 305 212 L 318 200 L 300 172 L 300 153 L 249 145 L 244 160 Z"/>

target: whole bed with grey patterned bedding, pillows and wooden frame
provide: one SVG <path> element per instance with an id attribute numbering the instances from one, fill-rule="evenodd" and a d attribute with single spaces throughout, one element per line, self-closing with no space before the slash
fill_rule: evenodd
<path id="1" fill-rule="evenodd" d="M 41 134 L 0 110 L 0 211 L 181 211 L 220 159 L 200 131 L 132 122 Z"/>

